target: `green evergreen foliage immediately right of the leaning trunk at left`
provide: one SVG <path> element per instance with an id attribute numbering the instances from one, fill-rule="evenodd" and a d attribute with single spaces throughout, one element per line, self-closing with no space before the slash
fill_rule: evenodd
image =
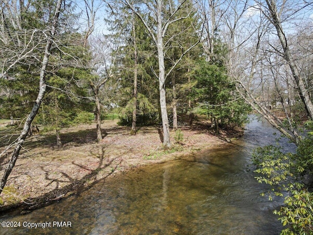
<path id="1" fill-rule="evenodd" d="M 41 112 L 36 117 L 38 124 L 47 125 L 46 129 L 57 132 L 71 124 L 90 123 L 94 117 L 93 103 L 86 98 L 88 87 L 86 80 L 90 71 L 77 67 L 77 61 L 87 63 L 89 53 L 82 47 L 83 36 L 79 33 L 62 35 L 63 45 L 51 51 L 49 73 L 46 76 L 47 89 Z"/>

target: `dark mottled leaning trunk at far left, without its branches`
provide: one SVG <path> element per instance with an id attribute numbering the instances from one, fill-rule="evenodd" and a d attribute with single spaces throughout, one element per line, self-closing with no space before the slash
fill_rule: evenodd
<path id="1" fill-rule="evenodd" d="M 45 53 L 44 53 L 44 58 L 43 58 L 43 64 L 42 64 L 42 68 L 40 71 L 40 82 L 39 82 L 39 93 L 37 96 L 37 99 L 35 101 L 35 104 L 33 106 L 32 111 L 30 112 L 30 114 L 28 115 L 28 117 L 26 118 L 23 130 L 21 132 L 21 135 L 19 136 L 19 138 L 16 141 L 16 146 L 15 149 L 12 153 L 11 159 L 9 161 L 9 163 L 7 164 L 1 182 L 0 182 L 0 194 L 7 182 L 7 179 L 16 163 L 16 160 L 19 157 L 21 148 L 22 148 L 22 144 L 25 141 L 25 138 L 27 136 L 28 130 L 30 128 L 31 122 L 33 121 L 33 119 L 36 117 L 36 114 L 40 108 L 40 104 L 42 102 L 42 99 L 44 97 L 45 94 L 45 88 L 46 88 L 46 84 L 45 84 L 45 70 L 47 68 L 48 65 L 48 61 L 49 61 L 49 55 L 50 55 L 50 48 L 52 45 L 52 38 L 55 35 L 56 32 L 56 27 L 57 27 L 57 23 L 58 23 L 58 19 L 59 19 L 59 15 L 60 15 L 60 9 L 61 9 L 61 2 L 62 0 L 58 0 L 57 1 L 57 5 L 56 5 L 56 9 L 54 12 L 54 16 L 52 19 L 52 27 L 51 27 L 51 31 L 50 31 L 50 35 L 47 38 L 47 43 L 45 45 Z"/>

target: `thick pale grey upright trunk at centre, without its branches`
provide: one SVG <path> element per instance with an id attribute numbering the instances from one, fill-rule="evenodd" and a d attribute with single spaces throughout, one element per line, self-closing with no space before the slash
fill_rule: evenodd
<path id="1" fill-rule="evenodd" d="M 159 68 L 159 92 L 160 92 L 160 109 L 163 126 L 163 147 L 170 148 L 172 146 L 170 141 L 170 128 L 166 109 L 165 96 L 165 65 L 164 65 L 164 48 L 162 37 L 162 0 L 157 0 L 157 56 Z"/>

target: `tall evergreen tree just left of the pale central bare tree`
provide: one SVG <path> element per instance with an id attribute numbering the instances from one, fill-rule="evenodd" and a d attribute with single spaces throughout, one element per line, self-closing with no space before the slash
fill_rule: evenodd
<path id="1" fill-rule="evenodd" d="M 153 74 L 156 66 L 153 52 L 156 47 L 132 11 L 125 6 L 121 6 L 118 11 L 123 14 L 116 15 L 110 24 L 114 28 L 113 38 L 122 45 L 116 51 L 117 70 L 121 78 L 118 80 L 119 123 L 132 125 L 131 133 L 135 134 L 136 125 L 158 120 L 158 92 Z"/>

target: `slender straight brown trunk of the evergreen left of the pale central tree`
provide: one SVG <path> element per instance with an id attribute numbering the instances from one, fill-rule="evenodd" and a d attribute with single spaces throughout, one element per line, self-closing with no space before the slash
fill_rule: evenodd
<path id="1" fill-rule="evenodd" d="M 136 31 L 135 31 L 135 23 L 134 23 L 134 12 L 133 12 L 133 33 L 134 33 L 134 106 L 133 106 L 133 123 L 131 134 L 136 134 L 136 120 L 137 120 L 137 47 L 136 47 Z"/>

